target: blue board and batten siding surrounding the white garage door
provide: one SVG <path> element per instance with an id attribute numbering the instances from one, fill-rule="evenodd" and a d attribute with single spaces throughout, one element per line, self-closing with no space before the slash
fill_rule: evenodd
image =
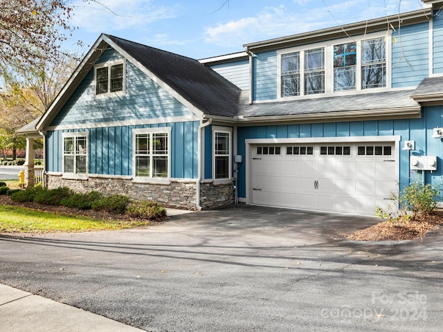
<path id="1" fill-rule="evenodd" d="M 426 172 L 426 183 L 443 182 L 443 142 L 432 138 L 434 127 L 443 127 L 443 106 L 424 107 L 422 118 L 405 120 L 372 120 L 355 122 L 325 122 L 307 124 L 278 124 L 268 126 L 237 127 L 237 154 L 246 156 L 245 140 L 253 138 L 321 138 L 352 136 L 401 136 L 400 147 L 404 140 L 415 140 L 414 155 L 437 156 L 437 171 Z M 411 174 L 409 151 L 396 151 L 399 154 L 399 179 L 402 186 L 410 178 L 422 176 Z M 247 160 L 246 163 L 248 162 Z M 246 166 L 239 169 L 239 197 L 246 198 Z"/>

